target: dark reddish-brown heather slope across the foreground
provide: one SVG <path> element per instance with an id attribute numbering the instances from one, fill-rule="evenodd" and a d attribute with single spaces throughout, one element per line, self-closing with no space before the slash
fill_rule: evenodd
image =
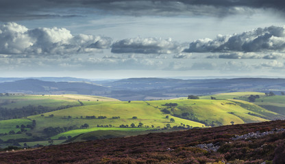
<path id="1" fill-rule="evenodd" d="M 0 154 L 1 163 L 284 163 L 285 121 L 47 146 Z M 236 135 L 266 133 L 233 139 Z M 201 148 L 212 144 L 217 150 Z"/>

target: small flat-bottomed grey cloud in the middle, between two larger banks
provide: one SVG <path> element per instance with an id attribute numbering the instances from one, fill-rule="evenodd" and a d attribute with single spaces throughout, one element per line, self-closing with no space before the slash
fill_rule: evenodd
<path id="1" fill-rule="evenodd" d="M 171 38 L 129 38 L 116 41 L 112 44 L 112 53 L 179 53 L 184 46 L 173 42 Z"/>

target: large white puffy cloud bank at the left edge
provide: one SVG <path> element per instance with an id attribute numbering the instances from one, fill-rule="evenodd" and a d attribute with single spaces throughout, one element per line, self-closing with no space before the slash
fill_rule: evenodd
<path id="1" fill-rule="evenodd" d="M 111 38 L 73 35 L 64 28 L 27 29 L 16 23 L 0 25 L 0 53 L 8 55 L 70 55 L 108 49 Z"/>

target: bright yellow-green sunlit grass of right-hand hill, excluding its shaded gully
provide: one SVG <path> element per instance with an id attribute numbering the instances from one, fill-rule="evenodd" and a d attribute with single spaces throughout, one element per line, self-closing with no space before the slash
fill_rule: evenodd
<path id="1" fill-rule="evenodd" d="M 248 113 L 253 111 L 244 109 L 230 100 L 160 100 L 149 101 L 149 104 L 159 109 L 164 109 L 166 106 L 163 105 L 169 102 L 178 104 L 178 106 L 171 111 L 172 113 L 179 115 L 184 112 L 195 113 L 199 120 L 209 120 L 210 122 L 217 120 L 222 124 L 230 124 L 232 121 L 236 122 L 236 124 L 267 121 L 267 119 L 249 115 Z M 243 103 L 256 107 L 250 102 L 243 101 Z M 262 108 L 259 108 L 259 110 L 267 111 Z M 254 113 L 258 112 L 259 111 L 255 111 Z M 271 113 L 271 111 L 268 112 Z M 235 115 L 231 113 L 235 113 Z M 277 113 L 274 114 L 277 115 Z"/>

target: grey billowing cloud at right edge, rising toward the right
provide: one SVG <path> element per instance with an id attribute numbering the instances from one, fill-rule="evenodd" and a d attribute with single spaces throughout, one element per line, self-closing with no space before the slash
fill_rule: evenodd
<path id="1" fill-rule="evenodd" d="M 217 52 L 264 52 L 284 51 L 285 26 L 266 27 L 233 34 L 232 36 L 217 36 L 214 40 L 199 39 L 191 42 L 185 52 L 217 53 Z"/>

